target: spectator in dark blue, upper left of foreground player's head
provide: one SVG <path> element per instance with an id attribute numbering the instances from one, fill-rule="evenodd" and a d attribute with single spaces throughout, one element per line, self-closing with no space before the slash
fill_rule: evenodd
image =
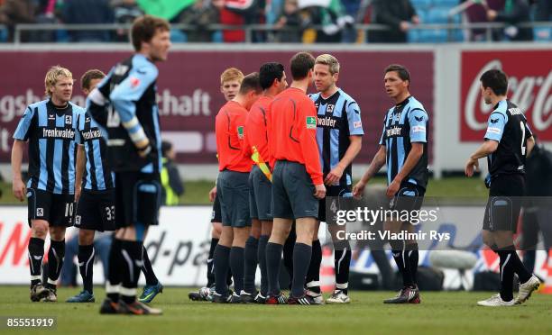
<path id="1" fill-rule="evenodd" d="M 63 4 L 63 22 L 68 24 L 114 23 L 108 0 L 66 0 Z M 72 31 L 71 41 L 109 41 L 109 32 Z"/>

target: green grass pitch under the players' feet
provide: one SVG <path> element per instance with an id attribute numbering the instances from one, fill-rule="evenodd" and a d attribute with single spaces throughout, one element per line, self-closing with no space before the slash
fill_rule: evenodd
<path id="1" fill-rule="evenodd" d="M 58 303 L 31 303 L 27 286 L 0 286 L 0 316 L 55 316 L 60 334 L 552 334 L 552 295 L 534 294 L 520 306 L 475 305 L 490 293 L 421 294 L 419 305 L 386 305 L 391 292 L 352 292 L 348 305 L 269 306 L 198 303 L 188 288 L 166 287 L 152 306 L 161 316 L 100 315 L 97 303 L 63 303 L 78 289 L 61 288 Z M 1 334 L 42 333 L 13 330 Z"/>

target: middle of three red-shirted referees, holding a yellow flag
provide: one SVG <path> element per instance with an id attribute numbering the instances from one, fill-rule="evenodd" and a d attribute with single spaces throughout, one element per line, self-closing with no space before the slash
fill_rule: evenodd
<path id="1" fill-rule="evenodd" d="M 252 228 L 245 241 L 244 291 L 240 298 L 244 303 L 264 303 L 268 292 L 266 274 L 266 244 L 271 236 L 271 167 L 268 148 L 266 111 L 274 96 L 283 91 L 288 83 L 284 67 L 280 63 L 262 64 L 259 70 L 262 96 L 251 107 L 245 122 L 246 155 L 252 156 L 255 165 L 249 174 L 249 209 Z M 261 291 L 255 291 L 257 263 L 261 268 Z"/>

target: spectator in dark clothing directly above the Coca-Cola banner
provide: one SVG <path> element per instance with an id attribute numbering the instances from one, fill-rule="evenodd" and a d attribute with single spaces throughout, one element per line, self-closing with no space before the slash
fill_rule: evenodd
<path id="1" fill-rule="evenodd" d="M 493 39 L 497 41 L 507 37 L 510 41 L 533 41 L 533 29 L 530 27 L 520 28 L 518 23 L 528 23 L 529 3 L 527 0 L 506 0 L 501 11 L 487 10 L 487 19 L 490 22 L 509 23 L 508 27 L 493 33 Z"/>

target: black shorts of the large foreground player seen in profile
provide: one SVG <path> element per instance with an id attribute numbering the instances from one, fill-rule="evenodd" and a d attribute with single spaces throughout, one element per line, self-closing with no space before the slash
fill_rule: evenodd
<path id="1" fill-rule="evenodd" d="M 115 172 L 115 229 L 159 224 L 159 173 Z"/>

